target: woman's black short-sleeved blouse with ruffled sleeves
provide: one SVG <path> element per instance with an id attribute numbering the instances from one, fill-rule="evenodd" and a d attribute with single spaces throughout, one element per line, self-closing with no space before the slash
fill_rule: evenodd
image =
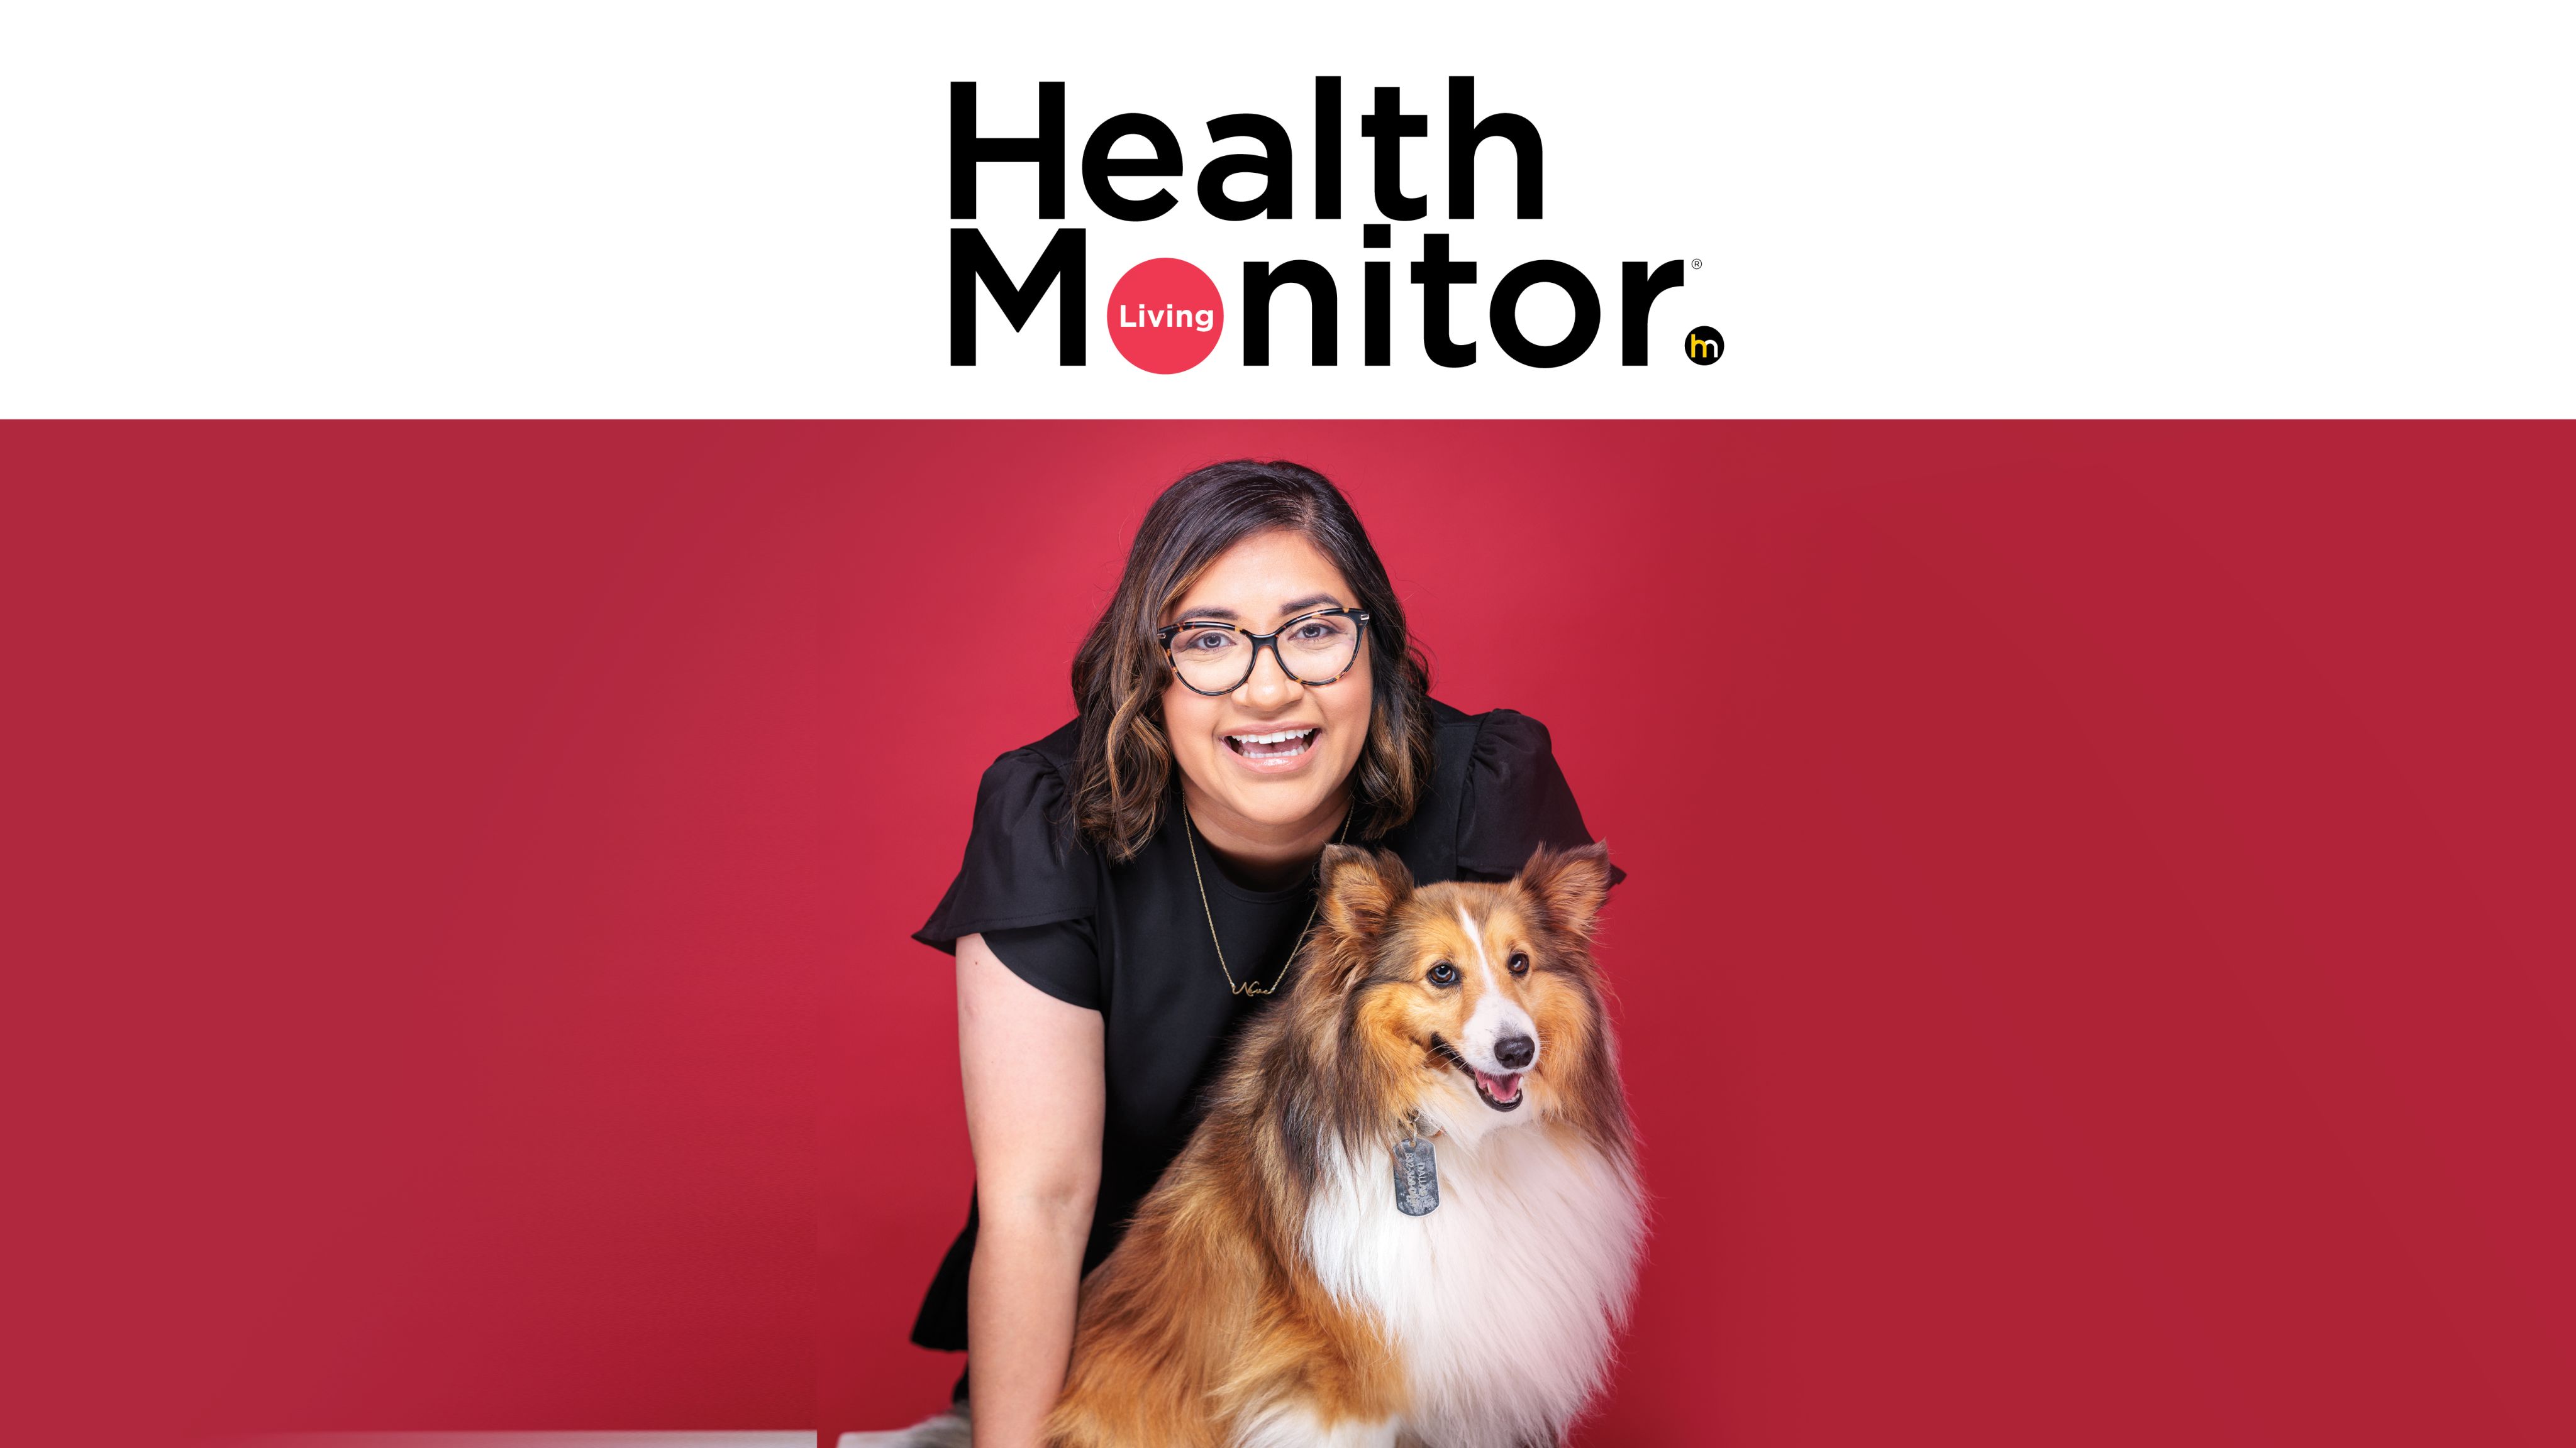
<path id="1" fill-rule="evenodd" d="M 1198 1095 L 1224 1062 L 1226 1043 L 1275 1000 L 1226 989 L 1208 940 L 1208 912 L 1234 979 L 1270 982 L 1314 910 L 1314 879 L 1257 891 L 1200 861 L 1208 886 L 1203 912 L 1180 809 L 1164 812 L 1162 830 L 1136 858 L 1108 863 L 1066 824 L 1077 734 L 1079 727 L 1066 724 L 984 770 L 966 863 L 912 938 L 956 951 L 961 935 L 984 935 L 1012 974 L 1103 1015 L 1108 1121 L 1100 1201 L 1082 1255 L 1090 1273 L 1198 1126 Z M 1417 881 L 1510 879 L 1538 845 L 1592 840 L 1538 719 L 1510 709 L 1461 714 L 1432 701 L 1432 786 L 1414 817 L 1381 840 Z M 912 1324 L 922 1348 L 966 1348 L 974 1232 L 969 1201 L 966 1229 L 948 1247 Z"/>

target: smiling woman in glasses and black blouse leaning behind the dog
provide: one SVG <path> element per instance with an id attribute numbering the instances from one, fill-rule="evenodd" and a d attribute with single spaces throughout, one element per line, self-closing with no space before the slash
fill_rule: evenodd
<path id="1" fill-rule="evenodd" d="M 1592 840 L 1538 721 L 1427 685 L 1332 482 L 1218 464 L 1146 510 L 1074 654 L 1079 719 L 984 770 L 966 863 L 914 935 L 958 958 L 976 1201 L 912 1340 L 969 1350 L 976 1448 L 1038 1443 L 1077 1283 L 1285 987 L 1324 845 L 1440 881 Z"/>

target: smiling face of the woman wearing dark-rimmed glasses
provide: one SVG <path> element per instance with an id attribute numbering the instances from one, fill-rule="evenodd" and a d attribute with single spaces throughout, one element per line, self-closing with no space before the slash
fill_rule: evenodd
<path id="1" fill-rule="evenodd" d="M 1270 634 L 1298 613 L 1358 605 L 1342 569 L 1314 544 L 1270 531 L 1218 554 L 1162 624 L 1211 618 Z M 1363 639 L 1350 672 L 1324 685 L 1291 680 L 1275 649 L 1260 649 L 1234 693 L 1211 698 L 1177 678 L 1164 683 L 1162 724 L 1203 827 L 1296 837 L 1340 812 L 1342 783 L 1368 742 L 1370 652 Z"/>

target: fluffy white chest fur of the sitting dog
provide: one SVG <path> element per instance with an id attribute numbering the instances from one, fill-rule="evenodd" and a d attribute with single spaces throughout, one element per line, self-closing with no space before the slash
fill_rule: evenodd
<path id="1" fill-rule="evenodd" d="M 1394 1337 L 1435 1448 L 1553 1443 L 1600 1386 L 1636 1278 L 1636 1180 L 1540 1123 L 1435 1139 L 1440 1208 L 1396 1211 L 1386 1147 L 1340 1159 L 1306 1216 L 1306 1260 Z"/>

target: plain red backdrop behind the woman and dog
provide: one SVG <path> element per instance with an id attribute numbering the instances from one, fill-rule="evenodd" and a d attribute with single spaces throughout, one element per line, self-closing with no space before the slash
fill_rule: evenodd
<path id="1" fill-rule="evenodd" d="M 0 430 L 8 1402 L 930 1409 L 904 933 L 1247 453 L 1633 871 L 1584 1443 L 2576 1433 L 2555 425 Z"/>

